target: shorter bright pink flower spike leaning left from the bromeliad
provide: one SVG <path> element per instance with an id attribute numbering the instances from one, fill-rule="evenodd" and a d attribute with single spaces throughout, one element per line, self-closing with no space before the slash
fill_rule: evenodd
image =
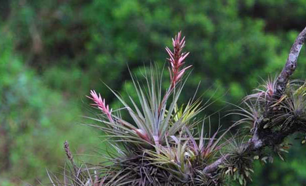
<path id="1" fill-rule="evenodd" d="M 111 117 L 111 110 L 109 111 L 108 105 L 105 104 L 105 99 L 102 100 L 101 95 L 97 95 L 94 90 L 90 90 L 90 96 L 86 96 L 94 102 L 94 104 L 90 105 L 96 106 L 98 109 L 100 109 L 101 112 L 107 116 L 109 122 L 113 123 L 113 119 Z"/>

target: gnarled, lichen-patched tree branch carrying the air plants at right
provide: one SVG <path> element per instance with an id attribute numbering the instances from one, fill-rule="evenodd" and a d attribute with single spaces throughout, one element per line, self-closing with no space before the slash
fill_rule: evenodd
<path id="1" fill-rule="evenodd" d="M 283 94 L 286 84 L 289 80 L 289 77 L 292 75 L 292 73 L 296 68 L 297 57 L 299 55 L 302 44 L 305 42 L 305 40 L 306 40 L 306 27 L 298 34 L 293 45 L 291 46 L 287 61 L 277 78 L 275 91 L 272 96 L 274 100 L 279 99 Z M 273 102 L 271 101 L 270 104 L 272 103 Z M 268 105 L 268 107 L 269 106 L 270 105 Z M 273 110 L 267 109 L 265 112 L 266 113 L 263 114 L 265 116 L 271 116 L 271 114 L 273 114 Z M 249 139 L 247 143 L 244 144 L 246 151 L 256 152 L 263 149 L 264 147 L 279 145 L 283 142 L 283 140 L 287 136 L 300 130 L 298 124 L 296 125 L 292 124 L 291 126 L 288 127 L 288 129 L 283 131 L 272 131 L 271 129 L 263 129 L 263 126 L 266 124 L 266 122 L 267 121 L 264 119 L 261 119 L 256 122 L 254 131 L 252 133 L 252 137 Z M 217 171 L 218 167 L 229 158 L 230 158 L 229 154 L 223 155 L 221 158 L 219 158 L 212 164 L 206 166 L 203 169 L 203 173 L 211 174 Z"/>

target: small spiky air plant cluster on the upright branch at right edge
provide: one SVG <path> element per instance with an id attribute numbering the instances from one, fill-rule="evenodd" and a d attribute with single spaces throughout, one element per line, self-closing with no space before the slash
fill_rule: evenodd
<path id="1" fill-rule="evenodd" d="M 304 81 L 288 81 L 281 96 L 273 94 L 277 79 L 264 82 L 263 89 L 255 89 L 256 93 L 243 100 L 246 109 L 238 113 L 245 115 L 240 122 L 248 120 L 250 128 L 262 128 L 285 132 L 288 129 L 306 129 L 306 84 Z M 261 126 L 255 126 L 258 124 Z M 264 125 L 262 125 L 264 124 Z M 290 131 L 287 131 L 290 132 Z"/>

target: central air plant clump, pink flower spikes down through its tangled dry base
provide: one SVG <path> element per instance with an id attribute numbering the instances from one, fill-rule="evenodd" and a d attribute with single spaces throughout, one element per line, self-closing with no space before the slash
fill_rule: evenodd
<path id="1" fill-rule="evenodd" d="M 183 76 L 191 65 L 183 66 L 189 53 L 182 51 L 185 37 L 181 38 L 181 32 L 172 39 L 172 45 L 173 51 L 166 47 L 170 64 L 170 85 L 163 95 L 159 78 L 154 76 L 156 70 L 152 67 L 149 73 L 144 74 L 146 90 L 132 77 L 138 100 L 129 97 L 131 105 L 110 89 L 122 103 L 122 109 L 128 112 L 131 123 L 116 114 L 116 111 L 112 111 L 94 90 L 87 96 L 94 102 L 91 105 L 102 112 L 102 117 L 90 118 L 102 125 L 91 126 L 106 133 L 106 137 L 110 139 L 108 141 L 121 143 L 120 147 L 112 145 L 118 151 L 128 151 L 118 158 L 109 157 L 112 166 L 102 166 L 100 172 L 106 173 L 109 169 L 112 175 L 117 172 L 122 175 L 130 172 L 129 176 L 133 175 L 131 178 L 134 185 L 191 185 L 199 171 L 211 162 L 222 148 L 221 141 L 225 133 L 217 137 L 216 132 L 207 137 L 203 131 L 204 127 L 201 127 L 199 138 L 190 133 L 202 123 L 196 116 L 206 108 L 207 102 L 202 105 L 200 99 L 194 100 L 193 97 L 187 104 L 178 106 L 177 101 L 185 83 Z M 206 179 L 211 180 L 210 177 Z M 124 180 L 128 181 L 128 178 Z"/>

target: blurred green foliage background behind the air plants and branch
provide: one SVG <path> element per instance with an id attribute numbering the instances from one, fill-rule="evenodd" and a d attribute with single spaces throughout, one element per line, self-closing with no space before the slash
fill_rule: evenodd
<path id="1" fill-rule="evenodd" d="M 64 165 L 64 140 L 95 155 L 100 134 L 80 125 L 92 112 L 85 95 L 94 88 L 116 107 L 102 82 L 131 93 L 127 65 L 162 66 L 177 31 L 193 65 L 181 101 L 201 81 L 204 99 L 217 100 L 209 114 L 281 70 L 305 17 L 306 0 L 0 0 L 0 186 L 47 184 L 45 168 Z M 305 54 L 295 78 L 306 78 Z M 294 144 L 286 163 L 256 163 L 250 185 L 306 186 L 306 150 Z"/>

